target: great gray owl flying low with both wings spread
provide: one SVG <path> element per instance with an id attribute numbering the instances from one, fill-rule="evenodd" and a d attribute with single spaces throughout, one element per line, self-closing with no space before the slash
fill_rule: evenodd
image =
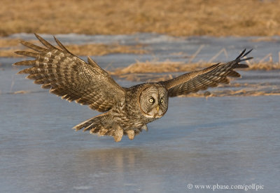
<path id="1" fill-rule="evenodd" d="M 111 135 L 116 142 L 119 142 L 123 135 L 133 140 L 143 129 L 147 131 L 146 124 L 167 112 L 169 97 L 205 90 L 219 83 L 228 84 L 227 76 L 240 76 L 233 69 L 248 67 L 239 62 L 251 59 L 244 58 L 251 52 L 245 53 L 244 50 L 228 63 L 218 63 L 167 81 L 123 88 L 91 58 L 88 57 L 85 62 L 69 52 L 56 38 L 60 48 L 52 46 L 37 34 L 35 36 L 45 48 L 21 41 L 21 44 L 36 53 L 15 52 L 35 58 L 16 62 L 14 65 L 31 66 L 18 73 L 29 74 L 28 79 L 34 79 L 35 84 L 43 84 L 42 88 L 50 89 L 50 93 L 62 96 L 63 99 L 75 100 L 81 105 L 89 105 L 91 109 L 105 112 L 74 128 L 84 128 L 84 131 L 99 135 Z"/>

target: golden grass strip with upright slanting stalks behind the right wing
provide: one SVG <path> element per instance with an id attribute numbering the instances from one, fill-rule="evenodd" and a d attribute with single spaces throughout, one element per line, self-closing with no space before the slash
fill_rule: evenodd
<path id="1" fill-rule="evenodd" d="M 192 62 L 193 59 L 197 57 L 197 54 L 200 53 L 202 49 L 202 46 L 197 49 L 197 51 L 193 54 L 188 56 L 189 60 L 187 63 L 184 62 L 172 62 L 169 60 L 166 60 L 165 62 L 158 62 L 157 60 L 152 61 L 146 61 L 146 62 L 140 62 L 137 61 L 132 65 L 129 65 L 124 68 L 114 69 L 113 72 L 111 72 L 114 76 L 120 76 L 121 78 L 125 78 L 130 81 L 142 81 L 145 80 L 145 74 L 146 79 L 149 81 L 162 81 L 165 79 L 172 78 L 172 74 L 165 74 L 164 76 L 161 75 L 155 75 L 155 73 L 166 73 L 166 72 L 190 72 L 197 69 L 203 69 L 205 67 L 209 67 L 211 65 L 214 65 L 212 62 L 215 60 L 218 55 L 221 55 L 221 53 L 224 53 L 225 55 L 228 55 L 228 52 L 225 48 L 221 49 L 216 55 L 214 55 L 210 60 L 208 61 L 201 61 L 201 62 Z M 177 53 L 178 54 L 178 53 Z M 183 54 L 183 53 L 179 53 Z M 279 55 L 279 61 L 274 62 L 272 60 L 272 53 L 268 53 L 265 55 L 264 58 L 261 58 L 258 61 L 255 60 L 246 60 L 245 62 L 248 64 L 248 68 L 244 70 L 274 70 L 274 69 L 280 69 L 280 51 L 278 53 Z M 150 73 L 150 74 L 149 74 Z M 152 79 L 150 79 L 152 78 Z"/>

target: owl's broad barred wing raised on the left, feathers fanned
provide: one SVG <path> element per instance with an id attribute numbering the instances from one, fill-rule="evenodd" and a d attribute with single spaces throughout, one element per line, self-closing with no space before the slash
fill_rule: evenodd
<path id="1" fill-rule="evenodd" d="M 123 103 L 125 90 L 91 58 L 87 62 L 70 53 L 57 39 L 58 46 L 52 46 L 41 36 L 37 39 L 46 47 L 42 48 L 26 41 L 21 44 L 36 51 L 17 51 L 19 55 L 29 56 L 35 60 L 16 62 L 14 65 L 31 66 L 18 72 L 29 74 L 35 84 L 43 84 L 50 93 L 62 96 L 63 99 L 76 101 L 99 112 L 106 112 L 116 103 Z"/>

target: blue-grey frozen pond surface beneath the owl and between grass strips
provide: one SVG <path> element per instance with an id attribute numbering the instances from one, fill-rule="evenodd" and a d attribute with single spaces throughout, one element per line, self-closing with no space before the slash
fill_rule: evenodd
<path id="1" fill-rule="evenodd" d="M 34 39 L 29 34 L 14 36 Z M 202 44 L 206 46 L 198 58 L 204 60 L 227 46 L 230 60 L 242 48 L 255 48 L 255 58 L 269 52 L 276 57 L 279 52 L 279 41 L 260 44 L 250 38 L 175 39 L 156 34 L 58 37 L 78 44 L 141 41 L 160 60 L 186 60 L 172 53 L 187 48 L 194 53 Z M 102 67 L 111 62 L 122 67 L 135 59 L 153 57 L 112 54 L 95 59 Z M 116 143 L 111 137 L 71 130 L 99 113 L 60 100 L 24 76 L 15 75 L 18 69 L 10 65 L 18 60 L 22 59 L 0 58 L 0 192 L 213 192 L 217 184 L 245 185 L 246 192 L 256 192 L 250 186 L 264 188 L 258 192 L 279 192 L 280 95 L 171 98 L 165 117 L 148 124 L 148 132 L 132 141 L 125 136 Z M 243 78 L 235 83 L 260 84 L 267 93 L 279 91 L 279 70 L 241 74 Z M 122 86 L 137 84 L 116 81 Z M 29 92 L 12 94 L 23 90 Z M 196 189 L 195 185 L 212 187 Z"/>

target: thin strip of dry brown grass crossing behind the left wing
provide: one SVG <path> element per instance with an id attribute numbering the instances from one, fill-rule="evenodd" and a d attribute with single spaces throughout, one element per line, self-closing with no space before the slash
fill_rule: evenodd
<path id="1" fill-rule="evenodd" d="M 0 57 L 22 57 L 15 54 L 15 51 L 27 51 L 28 48 L 21 46 L 20 39 L 0 39 Z M 39 45 L 39 41 L 29 41 L 32 44 Z M 120 44 L 83 44 L 83 45 L 66 45 L 72 53 L 76 55 L 106 55 L 110 53 L 148 53 L 143 49 L 143 45 L 125 46 Z"/>

